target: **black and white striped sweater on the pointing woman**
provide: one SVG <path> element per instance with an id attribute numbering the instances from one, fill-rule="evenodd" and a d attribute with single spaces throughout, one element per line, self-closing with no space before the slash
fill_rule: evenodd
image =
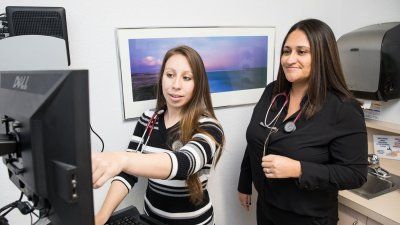
<path id="1" fill-rule="evenodd" d="M 136 150 L 153 113 L 154 111 L 148 110 L 140 117 L 128 151 Z M 171 158 L 172 169 L 168 178 L 165 180 L 149 179 L 144 196 L 145 213 L 163 223 L 173 225 L 214 224 L 207 182 L 217 150 L 215 141 L 222 142 L 223 131 L 217 120 L 208 117 L 201 118 L 199 126 L 214 140 L 205 134 L 197 133 L 193 135 L 192 141 L 172 151 L 172 146 L 177 146 L 175 141 L 179 136 L 179 124 L 166 129 L 162 114 L 154 126 L 147 146 L 143 149 L 143 153 L 164 152 Z M 190 202 L 190 194 L 186 185 L 186 178 L 194 173 L 198 175 L 204 191 L 204 200 L 199 205 Z M 128 190 L 137 182 L 135 176 L 125 173 L 116 176 L 115 180 L 123 182 Z"/>

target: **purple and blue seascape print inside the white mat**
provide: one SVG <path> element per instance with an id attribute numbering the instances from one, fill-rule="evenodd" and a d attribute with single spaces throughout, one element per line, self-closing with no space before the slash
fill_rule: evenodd
<path id="1" fill-rule="evenodd" d="M 202 57 L 211 93 L 265 87 L 267 43 L 267 36 L 129 39 L 133 101 L 155 98 L 166 51 L 183 44 Z"/>

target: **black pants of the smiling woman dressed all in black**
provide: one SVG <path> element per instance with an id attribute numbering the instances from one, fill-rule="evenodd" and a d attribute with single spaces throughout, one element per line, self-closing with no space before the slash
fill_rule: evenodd
<path id="1" fill-rule="evenodd" d="M 337 225 L 337 219 L 299 215 L 258 199 L 257 225 Z"/>

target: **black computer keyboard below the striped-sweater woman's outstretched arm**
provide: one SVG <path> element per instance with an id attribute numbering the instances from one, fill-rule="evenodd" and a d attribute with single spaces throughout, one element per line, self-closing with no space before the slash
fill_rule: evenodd
<path id="1" fill-rule="evenodd" d="M 105 225 L 164 225 L 163 223 L 147 216 L 140 215 L 134 206 L 114 212 Z"/>

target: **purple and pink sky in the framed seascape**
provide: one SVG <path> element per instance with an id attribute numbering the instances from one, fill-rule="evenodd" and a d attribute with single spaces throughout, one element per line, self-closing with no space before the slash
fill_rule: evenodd
<path id="1" fill-rule="evenodd" d="M 267 65 L 267 36 L 129 39 L 131 74 L 158 73 L 166 51 L 182 44 L 199 52 L 208 72 Z"/>

